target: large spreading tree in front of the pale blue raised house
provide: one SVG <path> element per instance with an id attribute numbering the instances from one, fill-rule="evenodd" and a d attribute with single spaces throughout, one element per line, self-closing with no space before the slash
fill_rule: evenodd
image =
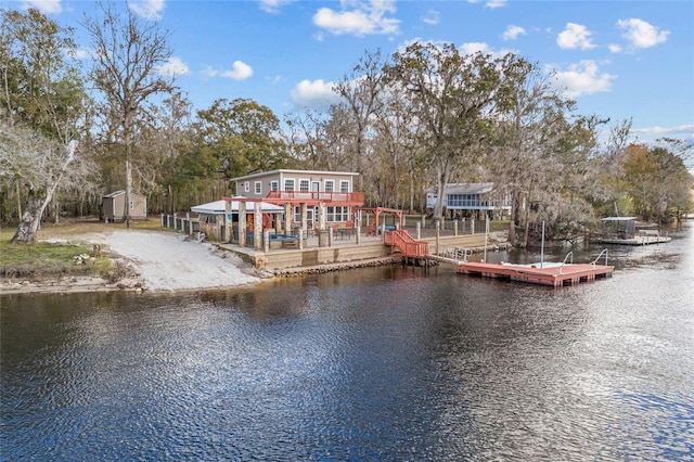
<path id="1" fill-rule="evenodd" d="M 441 219 L 451 171 L 479 164 L 479 147 L 490 139 L 497 103 L 513 84 L 504 73 L 517 59 L 462 55 L 453 44 L 414 43 L 395 53 L 393 61 L 386 66 L 389 82 L 409 94 L 424 128 L 420 142 L 436 171 L 434 218 Z"/>

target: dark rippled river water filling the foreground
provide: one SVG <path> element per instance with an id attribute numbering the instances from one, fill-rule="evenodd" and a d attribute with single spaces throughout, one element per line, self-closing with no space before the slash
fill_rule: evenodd
<path id="1" fill-rule="evenodd" d="M 694 460 L 693 231 L 557 290 L 387 267 L 0 296 L 0 459 Z"/>

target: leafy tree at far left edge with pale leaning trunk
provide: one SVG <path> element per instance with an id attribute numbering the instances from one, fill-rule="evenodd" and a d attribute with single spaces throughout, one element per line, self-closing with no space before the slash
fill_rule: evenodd
<path id="1" fill-rule="evenodd" d="M 44 172 L 60 171 L 60 166 L 51 165 L 51 161 L 63 165 L 60 156 L 49 155 L 56 150 L 53 144 L 62 146 L 59 149 L 62 151 L 69 140 L 79 139 L 85 132 L 87 97 L 78 69 L 67 57 L 75 51 L 70 29 L 61 28 L 34 9 L 24 13 L 0 10 L 0 124 L 7 131 L 2 150 L 9 156 L 3 164 L 9 170 L 0 172 L 3 177 L 0 188 L 2 192 L 15 193 L 17 220 L 28 230 L 28 235 L 22 238 L 21 233 L 15 236 L 16 241 L 33 241 L 48 202 L 63 190 L 47 187 L 46 181 L 38 178 Z M 76 185 L 90 180 L 74 179 Z M 36 213 L 37 194 L 41 191 L 50 194 L 47 203 L 39 200 L 40 211 Z M 89 188 L 73 191 L 89 191 Z M 27 200 L 28 214 L 22 213 L 23 198 Z M 26 219 L 36 221 L 26 222 Z"/>

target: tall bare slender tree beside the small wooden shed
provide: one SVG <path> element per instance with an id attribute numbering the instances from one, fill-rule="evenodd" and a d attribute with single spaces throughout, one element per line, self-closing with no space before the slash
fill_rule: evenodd
<path id="1" fill-rule="evenodd" d="M 157 70 L 171 56 L 169 34 L 156 23 L 139 20 L 131 10 L 120 14 L 113 4 L 104 7 L 100 3 L 100 8 L 102 18 L 86 17 L 83 23 L 93 48 L 91 77 L 104 97 L 101 113 L 108 134 L 113 137 L 107 141 L 123 146 L 125 200 L 130 204 L 138 119 L 143 116 L 151 98 L 174 91 L 174 78 Z M 130 208 L 127 206 L 125 221 L 130 227 Z"/>

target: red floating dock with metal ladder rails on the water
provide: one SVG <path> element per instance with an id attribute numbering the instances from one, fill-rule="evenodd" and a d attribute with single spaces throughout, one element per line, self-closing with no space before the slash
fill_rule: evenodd
<path id="1" fill-rule="evenodd" d="M 595 264 L 484 264 L 461 261 L 455 272 L 560 287 L 612 275 L 615 267 Z"/>

